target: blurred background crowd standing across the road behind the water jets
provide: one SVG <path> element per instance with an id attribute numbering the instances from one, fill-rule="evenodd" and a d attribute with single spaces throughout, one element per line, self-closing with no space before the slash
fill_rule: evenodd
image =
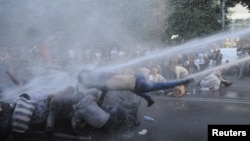
<path id="1" fill-rule="evenodd" d="M 1 47 L 0 75 L 1 87 L 13 86 L 5 72 L 10 71 L 22 82 L 27 82 L 36 75 L 41 68 L 69 69 L 72 66 L 98 68 L 110 64 L 122 64 L 137 57 L 147 56 L 160 51 L 157 47 L 144 47 L 138 45 L 129 47 L 103 47 L 103 48 L 53 48 L 47 44 L 33 47 L 29 50 Z M 209 48 L 200 48 L 193 53 L 176 52 L 172 56 L 152 59 L 136 64 L 137 68 L 146 68 L 149 73 L 156 71 L 163 79 L 179 79 L 182 68 L 188 73 L 203 71 L 211 66 L 222 63 L 223 55 L 220 49 L 211 45 Z M 134 66 L 132 66 L 134 67 Z M 155 68 L 154 70 L 152 70 Z M 152 70 L 152 71 L 151 71 Z M 181 72 L 178 72 L 181 71 Z M 185 75 L 187 75 L 185 72 Z"/>

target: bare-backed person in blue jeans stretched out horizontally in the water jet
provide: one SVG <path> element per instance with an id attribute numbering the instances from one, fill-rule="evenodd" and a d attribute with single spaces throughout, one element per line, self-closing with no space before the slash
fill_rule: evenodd
<path id="1" fill-rule="evenodd" d="M 150 107 L 154 104 L 154 100 L 146 94 L 147 92 L 174 88 L 178 85 L 187 84 L 192 80 L 192 78 L 183 78 L 166 82 L 148 82 L 139 71 L 134 74 L 120 74 L 83 69 L 78 74 L 77 86 L 79 90 L 81 87 L 102 90 L 103 93 L 99 104 L 102 104 L 107 91 L 128 90 L 144 98 L 148 103 L 148 107 Z"/>

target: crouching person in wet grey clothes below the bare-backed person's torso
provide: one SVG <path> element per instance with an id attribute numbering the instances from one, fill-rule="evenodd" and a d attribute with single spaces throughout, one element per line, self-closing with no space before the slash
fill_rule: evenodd
<path id="1" fill-rule="evenodd" d="M 96 89 L 96 91 L 99 90 Z M 86 125 L 104 131 L 139 125 L 137 117 L 129 113 L 125 107 L 119 104 L 99 106 L 98 100 L 98 95 L 87 94 L 72 106 L 71 123 L 74 131 L 81 131 Z"/>

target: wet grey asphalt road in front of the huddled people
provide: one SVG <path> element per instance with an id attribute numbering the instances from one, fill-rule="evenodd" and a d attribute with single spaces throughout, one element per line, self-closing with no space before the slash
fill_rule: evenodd
<path id="1" fill-rule="evenodd" d="M 180 98 L 154 95 L 155 104 L 147 108 L 143 99 L 138 111 L 140 125 L 122 133 L 95 133 L 92 141 L 207 141 L 209 124 L 250 125 L 250 78 L 238 80 L 231 87 L 222 87 L 220 92 L 197 93 Z M 154 119 L 148 122 L 147 115 Z M 146 129 L 144 135 L 139 131 Z M 28 135 L 14 140 L 42 141 L 43 135 Z M 54 138 L 57 141 L 70 141 L 69 138 Z"/>

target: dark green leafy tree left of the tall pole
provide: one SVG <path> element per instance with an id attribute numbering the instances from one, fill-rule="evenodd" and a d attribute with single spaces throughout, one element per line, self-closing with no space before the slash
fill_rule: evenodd
<path id="1" fill-rule="evenodd" d="M 165 40 L 172 35 L 189 40 L 221 30 L 221 7 L 214 0 L 170 0 Z"/>

